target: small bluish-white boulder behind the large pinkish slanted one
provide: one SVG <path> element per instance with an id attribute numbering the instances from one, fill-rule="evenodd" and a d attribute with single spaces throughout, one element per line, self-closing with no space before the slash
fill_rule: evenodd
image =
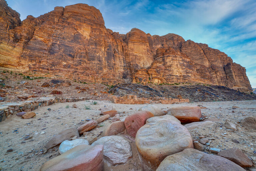
<path id="1" fill-rule="evenodd" d="M 71 148 L 82 144 L 89 145 L 89 142 L 85 139 L 65 140 L 59 146 L 59 153 L 63 154 Z"/>

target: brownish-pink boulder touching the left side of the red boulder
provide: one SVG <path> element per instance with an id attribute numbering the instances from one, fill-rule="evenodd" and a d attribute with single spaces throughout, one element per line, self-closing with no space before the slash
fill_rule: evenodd
<path id="1" fill-rule="evenodd" d="M 123 121 L 111 123 L 104 132 L 104 136 L 117 135 L 125 130 Z"/>

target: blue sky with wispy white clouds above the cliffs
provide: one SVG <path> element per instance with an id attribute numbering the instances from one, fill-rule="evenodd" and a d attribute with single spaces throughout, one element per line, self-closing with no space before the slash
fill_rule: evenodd
<path id="1" fill-rule="evenodd" d="M 175 33 L 185 40 L 206 43 L 246 68 L 256 88 L 255 0 L 6 0 L 20 13 L 38 17 L 55 6 L 86 3 L 98 8 L 107 28 L 127 33 L 139 28 L 151 35 Z"/>

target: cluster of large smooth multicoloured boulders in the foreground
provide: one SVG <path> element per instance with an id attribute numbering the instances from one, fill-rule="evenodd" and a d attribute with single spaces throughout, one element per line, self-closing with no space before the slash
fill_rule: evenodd
<path id="1" fill-rule="evenodd" d="M 111 165 L 126 163 L 133 156 L 127 138 L 135 141 L 143 171 L 244 171 L 242 167 L 253 165 L 250 158 L 236 148 L 209 149 L 217 155 L 201 152 L 205 149 L 203 145 L 211 140 L 200 136 L 200 140 L 195 141 L 188 129 L 200 127 L 199 123 L 214 123 L 200 122 L 202 115 L 198 106 L 162 111 L 154 105 L 147 105 L 122 120 L 117 113 L 109 106 L 104 107 L 101 109 L 103 116 L 97 120 L 89 120 L 78 128 L 64 130 L 52 137 L 46 148 L 49 150 L 60 145 L 61 155 L 45 162 L 40 171 L 79 171 L 84 168 L 103 171 L 104 162 Z M 90 130 L 110 118 L 112 123 L 102 132 L 102 137 L 91 138 Z"/>

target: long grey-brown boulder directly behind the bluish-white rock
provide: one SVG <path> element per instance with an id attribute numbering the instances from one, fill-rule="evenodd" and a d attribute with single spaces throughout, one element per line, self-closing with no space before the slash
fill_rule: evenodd
<path id="1" fill-rule="evenodd" d="M 65 140 L 71 140 L 74 136 L 79 137 L 78 130 L 76 128 L 66 129 L 58 134 L 56 134 L 48 143 L 46 144 L 46 149 L 50 149 L 59 145 Z"/>

